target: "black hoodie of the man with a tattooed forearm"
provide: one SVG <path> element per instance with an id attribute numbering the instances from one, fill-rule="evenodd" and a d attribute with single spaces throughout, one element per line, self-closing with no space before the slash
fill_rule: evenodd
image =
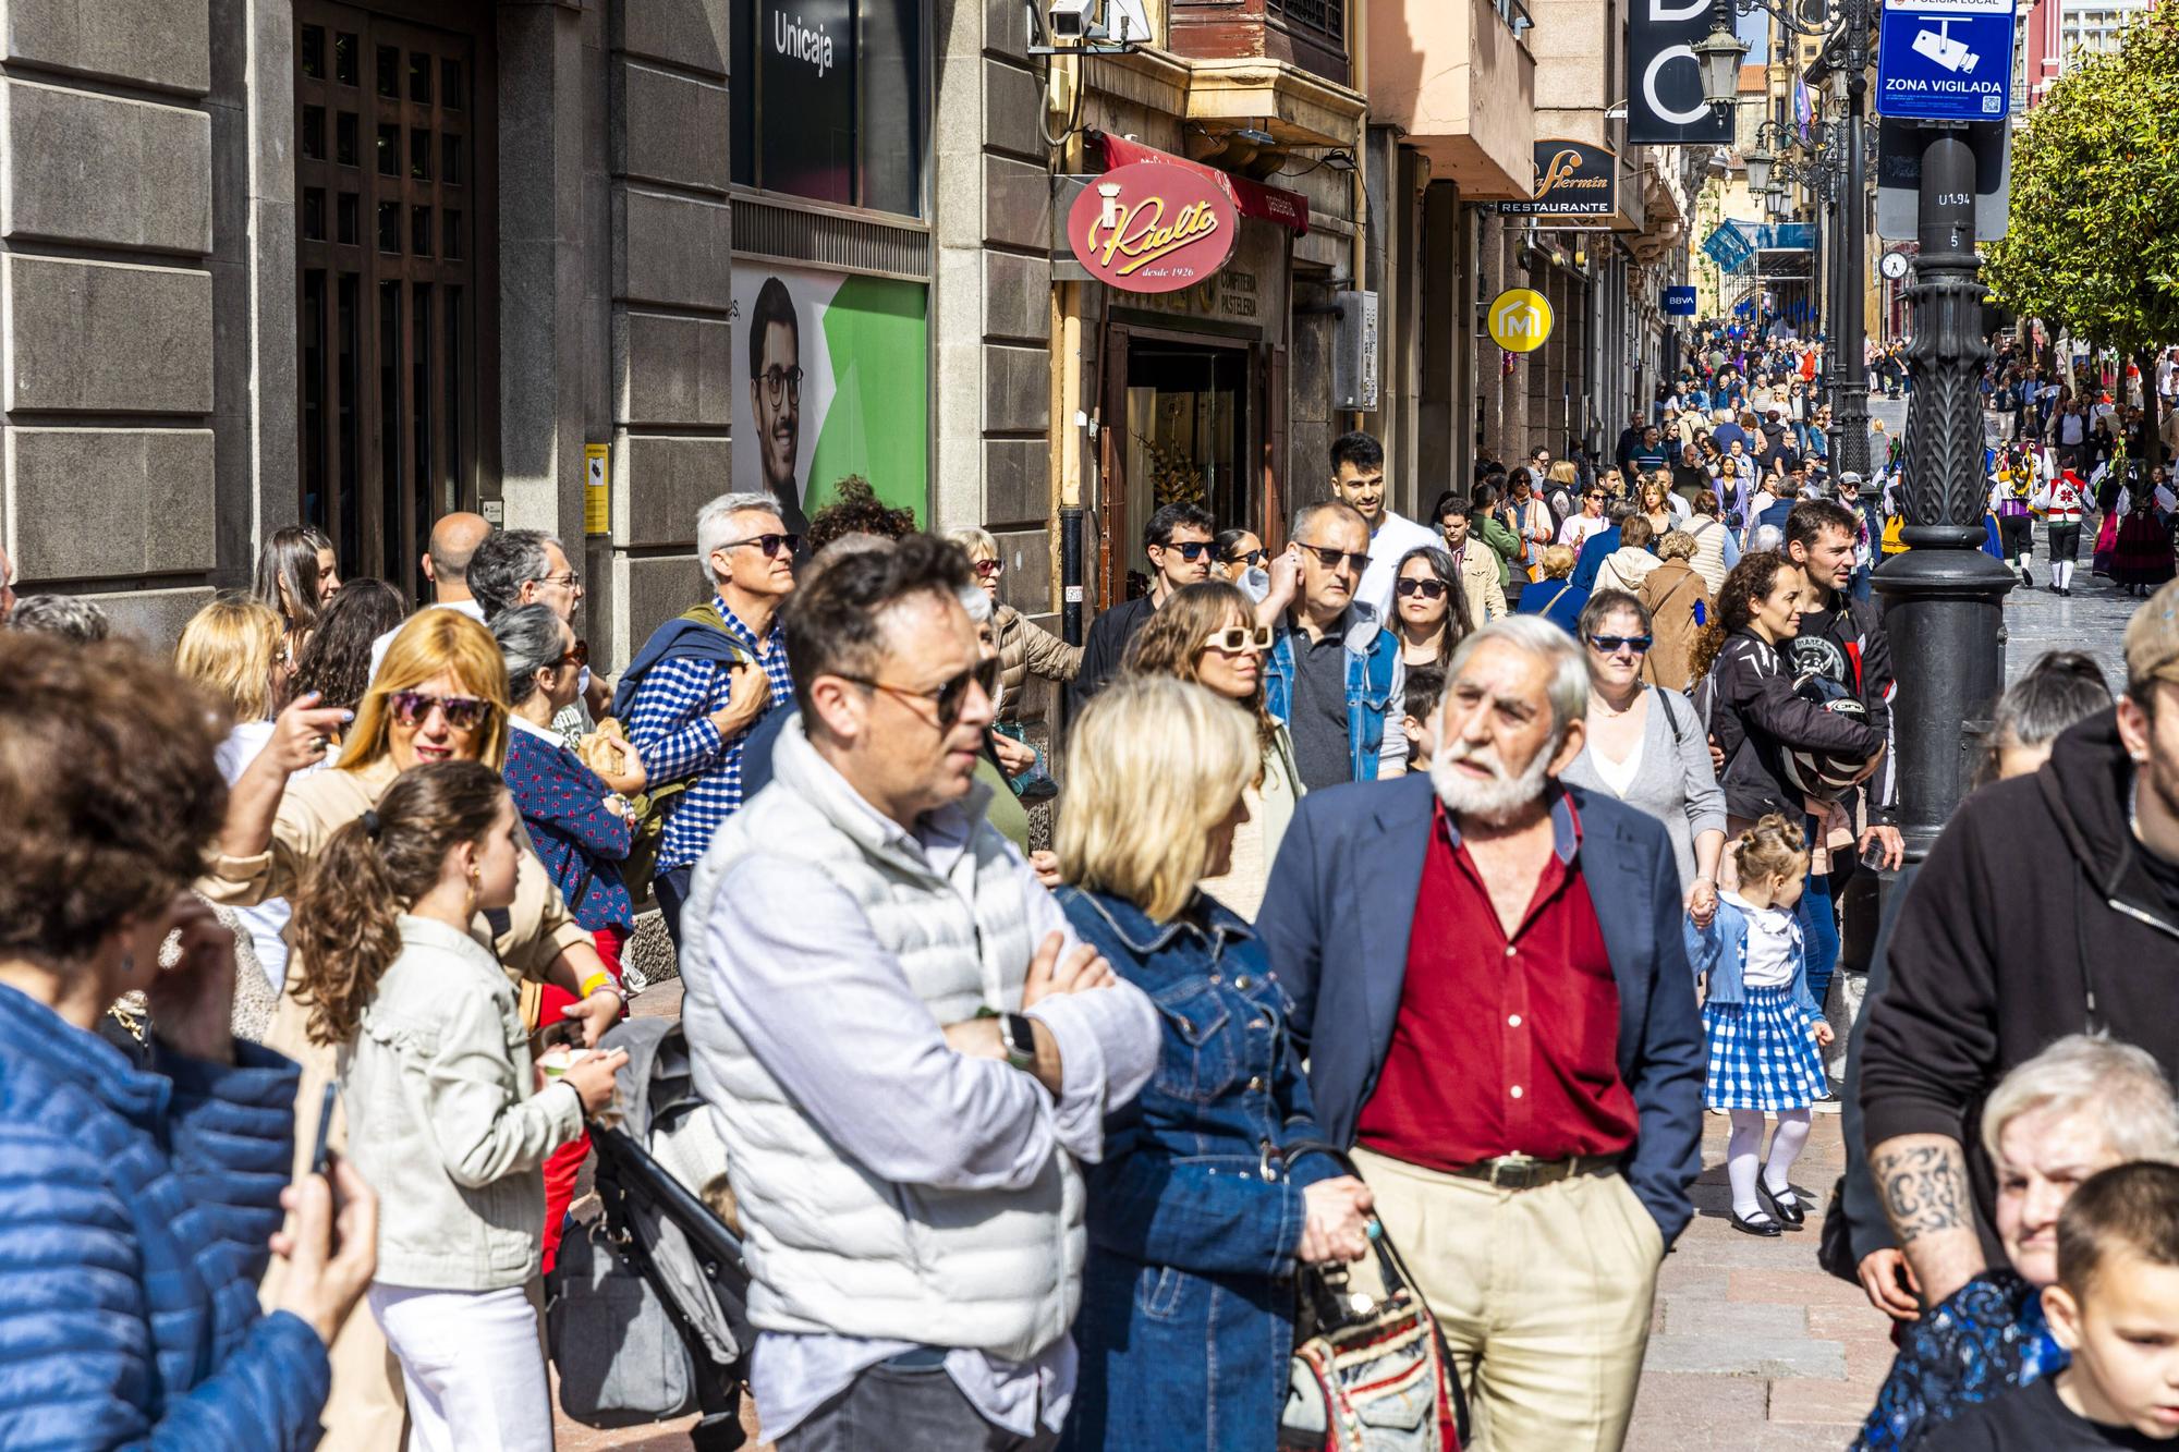
<path id="1" fill-rule="evenodd" d="M 1900 907 L 1891 983 L 1865 1009 L 1867 1142 L 1959 1138 L 1994 1256 L 1981 1114 L 2005 1070 L 2109 1029 L 2179 1077 L 2179 903 L 2142 868 L 2131 802 L 2116 711 L 2061 735 L 2033 776 L 1970 796 Z"/>

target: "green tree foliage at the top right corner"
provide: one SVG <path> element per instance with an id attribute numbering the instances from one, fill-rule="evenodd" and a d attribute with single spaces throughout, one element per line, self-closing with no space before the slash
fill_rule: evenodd
<path id="1" fill-rule="evenodd" d="M 1983 281 L 1998 303 L 2138 353 L 2179 338 L 2179 15 L 2074 55 L 2013 131 L 2011 220 Z"/>

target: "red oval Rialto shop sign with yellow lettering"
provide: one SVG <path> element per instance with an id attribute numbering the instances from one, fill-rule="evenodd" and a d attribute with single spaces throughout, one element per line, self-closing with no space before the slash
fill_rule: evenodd
<path id="1" fill-rule="evenodd" d="M 1164 161 L 1092 177 L 1068 209 L 1068 242 L 1090 275 L 1127 292 L 1179 292 L 1222 268 L 1240 211 L 1216 179 Z"/>

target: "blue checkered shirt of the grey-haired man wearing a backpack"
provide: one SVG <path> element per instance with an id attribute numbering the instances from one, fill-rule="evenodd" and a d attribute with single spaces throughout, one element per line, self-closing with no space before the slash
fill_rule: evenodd
<path id="1" fill-rule="evenodd" d="M 723 600 L 713 597 L 713 604 L 734 641 L 763 663 L 765 676 L 771 678 L 771 700 L 747 728 L 723 741 L 719 728 L 710 724 L 710 713 L 726 706 L 730 685 L 726 667 L 675 656 L 643 676 L 636 704 L 628 713 L 628 739 L 636 743 L 654 783 L 689 778 L 689 789 L 673 802 L 658 842 L 658 876 L 702 857 L 719 824 L 741 809 L 741 748 L 750 730 L 774 711 L 793 706 L 795 678 L 787 671 L 787 637 L 778 621 L 758 648 L 756 634 L 726 608 Z"/>

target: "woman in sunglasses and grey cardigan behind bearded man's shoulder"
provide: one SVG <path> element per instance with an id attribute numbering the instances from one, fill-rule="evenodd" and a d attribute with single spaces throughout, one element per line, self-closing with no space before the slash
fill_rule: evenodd
<path id="1" fill-rule="evenodd" d="M 1643 685 L 1650 610 L 1626 591 L 1597 591 L 1582 608 L 1588 652 L 1588 743 L 1565 781 L 1617 796 L 1665 824 L 1680 863 L 1687 916 L 1708 927 L 1717 913 L 1717 859 L 1726 848 L 1726 794 L 1693 702 Z"/>

